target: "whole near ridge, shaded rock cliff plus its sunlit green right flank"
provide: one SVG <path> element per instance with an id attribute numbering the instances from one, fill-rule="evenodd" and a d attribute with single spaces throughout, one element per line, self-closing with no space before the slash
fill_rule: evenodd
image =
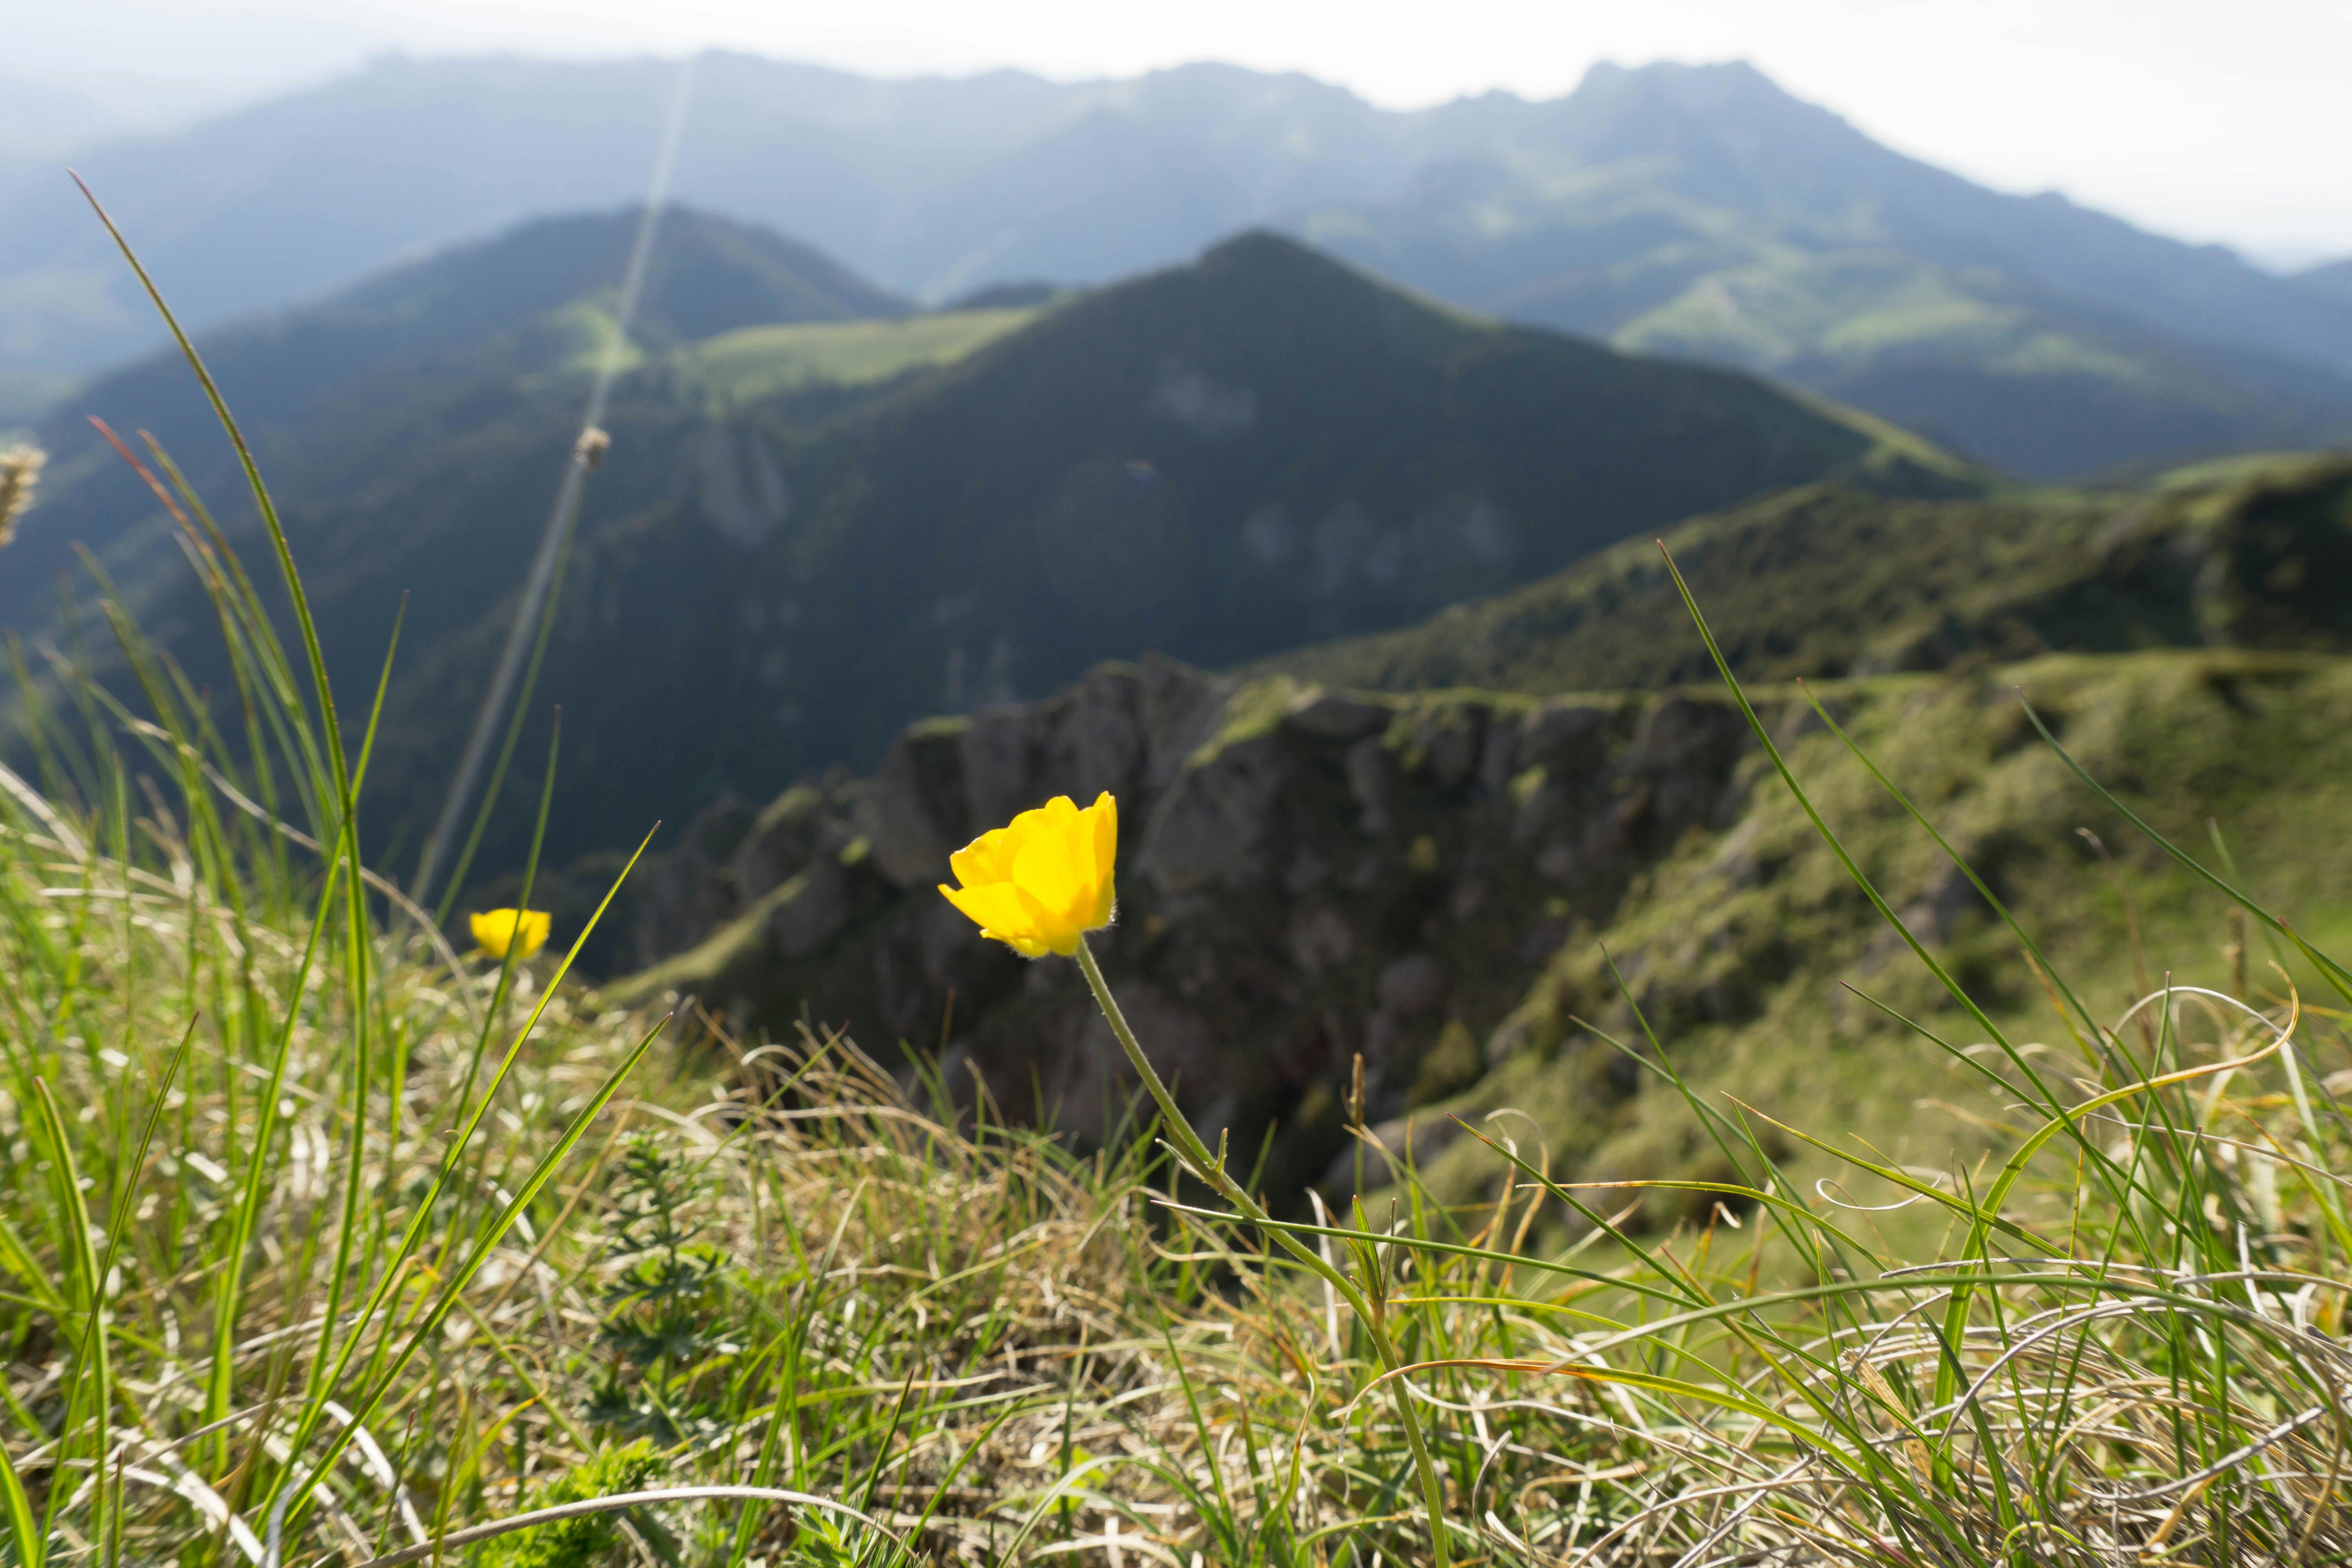
<path id="1" fill-rule="evenodd" d="M 1924 1107 L 1983 1091 L 1957 1067 L 1980 1018 L 1905 936 L 2016 1039 L 2049 1027 L 2046 973 L 2093 1006 L 2143 994 L 2159 952 L 2180 983 L 2241 983 L 2213 957 L 2220 907 L 2133 849 L 2039 743 L 2020 691 L 2176 842 L 2218 823 L 2249 879 L 2305 889 L 2307 907 L 2347 886 L 2352 661 L 2324 654 L 1813 686 L 1837 731 L 1806 693 L 1750 686 L 1837 853 L 1715 689 L 1362 696 L 1105 665 L 1047 703 L 920 724 L 873 778 L 703 816 L 633 879 L 633 940 L 668 957 L 614 994 L 691 992 L 753 1037 L 840 1025 L 976 1112 L 1108 1140 L 1134 1084 L 1077 966 L 983 943 L 934 882 L 950 846 L 1011 813 L 1110 790 L 1120 919 L 1096 938 L 1103 969 L 1185 1114 L 1211 1143 L 1230 1135 L 1277 1201 L 1390 1182 L 1348 1135 L 1362 1060 L 1364 1126 L 1390 1152 L 1411 1145 L 1432 1201 L 1503 1192 L 1508 1166 L 1477 1133 L 1597 1182 L 1592 1201 L 1621 1187 L 1611 1213 L 1703 1222 L 1712 1199 L 1693 1187 L 1632 1187 L 1719 1180 L 1724 1126 L 1698 1103 L 1764 1147 L 1783 1147 L 1776 1124 L 1879 1147 L 1955 1135 Z M 2018 957 L 1912 809 L 2020 912 L 2042 959 Z M 2136 924 L 2126 884 L 2145 891 Z"/>

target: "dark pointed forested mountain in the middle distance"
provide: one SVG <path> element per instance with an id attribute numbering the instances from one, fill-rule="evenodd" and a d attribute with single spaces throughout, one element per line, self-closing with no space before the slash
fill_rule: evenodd
<path id="1" fill-rule="evenodd" d="M 750 795 L 1098 658 L 1228 663 L 1397 623 L 1708 494 L 1983 482 L 1764 383 L 1461 317 L 1275 235 L 1070 301 L 833 423 L 724 428 L 729 463 L 779 475 L 764 531 L 715 536 L 696 480 L 576 548 L 567 604 L 663 625 L 668 651 L 557 625 L 567 844 L 656 813 L 621 757 L 666 757 L 680 797 Z M 449 644 L 416 689 L 466 693 L 487 646 Z"/>

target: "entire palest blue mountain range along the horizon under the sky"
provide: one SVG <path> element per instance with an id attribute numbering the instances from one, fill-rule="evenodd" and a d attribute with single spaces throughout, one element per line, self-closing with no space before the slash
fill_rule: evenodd
<path id="1" fill-rule="evenodd" d="M 80 167 L 214 324 L 633 200 L 675 80 L 383 61 Z M 1762 369 L 2032 475 L 2352 433 L 2340 273 L 1983 190 L 1738 63 L 1390 113 L 1230 66 L 875 82 L 710 54 L 677 190 L 924 301 L 1287 228 L 1451 303 Z M 71 183 L 0 183 L 0 414 L 153 341 Z"/>

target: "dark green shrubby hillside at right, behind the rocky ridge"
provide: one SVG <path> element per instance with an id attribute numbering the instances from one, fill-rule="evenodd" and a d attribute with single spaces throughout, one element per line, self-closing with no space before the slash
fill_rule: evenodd
<path id="1" fill-rule="evenodd" d="M 2352 646 L 2352 461 L 2338 456 L 2209 463 L 2145 491 L 1900 501 L 1811 487 L 1689 522 L 1665 545 L 1757 679 L 2044 651 Z M 1268 668 L 1383 691 L 1712 675 L 1649 541 Z"/>

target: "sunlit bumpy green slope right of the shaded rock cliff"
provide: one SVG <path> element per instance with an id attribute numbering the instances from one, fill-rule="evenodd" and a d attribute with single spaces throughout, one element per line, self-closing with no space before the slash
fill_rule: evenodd
<path id="1" fill-rule="evenodd" d="M 2321 950 L 2352 938 L 2352 661 L 2051 656 L 1820 686 L 1830 712 L 2020 912 L 2093 1013 L 2110 1018 L 2166 976 L 2232 990 L 2225 903 L 2159 858 L 2039 743 L 2020 693 L 2176 844 L 2211 863 L 2218 832 L 2244 886 L 2288 910 Z M 1940 851 L 1792 689 L 1759 686 L 1757 696 L 1790 738 L 1797 776 L 1910 929 L 2018 1039 L 2065 1044 L 2070 1023 Z M 1759 773 L 1762 757 L 1748 766 Z M 1611 919 L 1562 943 L 1498 1032 L 1496 1072 L 1446 1110 L 1526 1112 L 1555 1161 L 1588 1180 L 1705 1175 L 1717 1154 L 1675 1095 L 1656 1084 L 1630 1093 L 1637 1074 L 1613 1067 L 1621 1058 L 1602 1041 L 1639 1046 L 1646 1018 L 1677 1070 L 1710 1095 L 1738 1095 L 1809 1131 L 1835 1126 L 1931 1166 L 1985 1147 L 1985 1128 L 1969 1119 L 1997 1117 L 1983 1088 L 1877 1004 L 1952 1046 L 1973 1046 L 1983 1032 L 1856 896 L 1795 802 L 1776 783 L 1759 785 L 1719 832 L 1693 832 L 1653 867 Z M 1611 957 L 1625 990 L 1609 973 Z M 2319 987 L 2291 950 L 2260 938 L 2246 976 L 2249 994 L 2272 1001 L 2288 985 Z M 1439 1187 L 1454 1197 L 1496 1175 L 1494 1157 L 1468 1143 L 1439 1164 Z M 1672 1218 L 1675 1201 L 1651 1199 L 1651 1218 Z"/>

